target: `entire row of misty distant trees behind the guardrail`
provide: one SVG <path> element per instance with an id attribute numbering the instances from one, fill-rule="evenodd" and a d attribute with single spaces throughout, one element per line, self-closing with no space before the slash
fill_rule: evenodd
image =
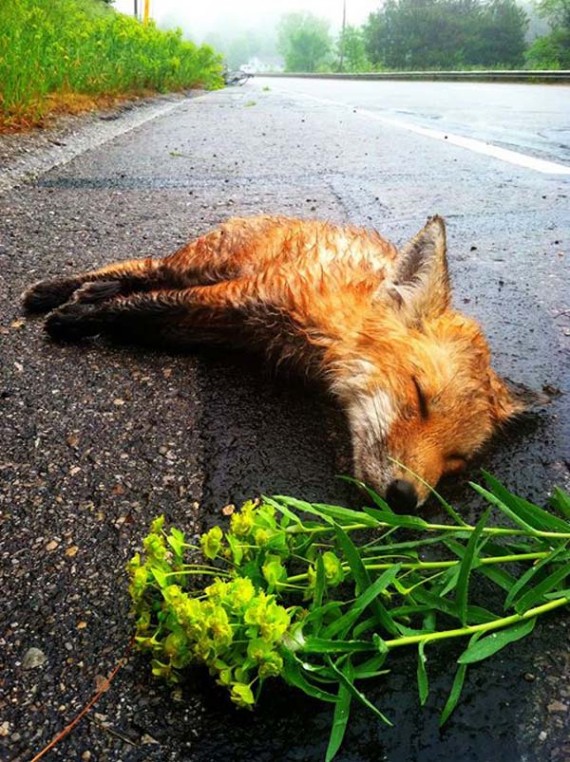
<path id="1" fill-rule="evenodd" d="M 282 17 L 277 50 L 287 71 L 570 68 L 570 0 L 538 0 L 551 33 L 530 48 L 515 0 L 385 0 L 335 40 L 308 12 Z"/>

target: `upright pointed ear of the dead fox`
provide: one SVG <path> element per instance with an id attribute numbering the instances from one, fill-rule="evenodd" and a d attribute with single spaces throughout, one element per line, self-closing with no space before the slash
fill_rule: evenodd
<path id="1" fill-rule="evenodd" d="M 451 300 L 445 242 L 445 223 L 431 217 L 399 252 L 388 292 L 414 321 L 436 317 Z"/>

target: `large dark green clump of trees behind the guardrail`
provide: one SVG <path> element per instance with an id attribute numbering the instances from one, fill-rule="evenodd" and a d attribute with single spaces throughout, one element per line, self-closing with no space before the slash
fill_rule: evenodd
<path id="1" fill-rule="evenodd" d="M 515 0 L 387 0 L 363 33 L 372 63 L 390 69 L 517 66 L 527 24 Z"/>

